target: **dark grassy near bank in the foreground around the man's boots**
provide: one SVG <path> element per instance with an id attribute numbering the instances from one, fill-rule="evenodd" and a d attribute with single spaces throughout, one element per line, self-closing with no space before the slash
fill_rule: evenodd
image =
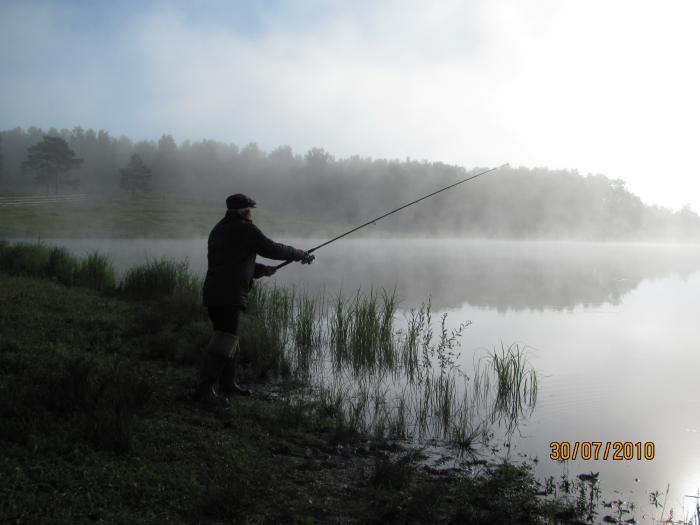
<path id="1" fill-rule="evenodd" d="M 318 333 L 313 306 L 303 298 L 281 290 L 256 296 L 243 325 L 244 381 L 276 379 L 258 383 L 252 398 L 212 412 L 190 400 L 210 328 L 182 268 L 179 274 L 151 268 L 173 276 L 169 281 L 151 279 L 142 268 L 131 291 L 127 276 L 112 288 L 88 281 L 89 288 L 49 270 L 74 276 L 65 268 L 84 261 L 36 263 L 28 266 L 36 276 L 28 276 L 10 248 L 0 247 L 3 264 L 15 264 L 0 273 L 0 522 L 573 523 L 585 517 L 593 489 L 585 480 L 572 480 L 564 493 L 540 486 L 527 466 L 507 462 L 471 462 L 469 475 L 438 471 L 419 451 L 349 425 L 332 390 L 319 398 L 301 388 L 299 378 L 314 370 L 304 356 L 312 357 Z M 23 260 L 51 261 L 36 253 Z M 108 276 L 108 264 L 93 259 Z M 161 291 L 147 293 L 156 288 Z M 392 356 L 404 354 L 390 348 L 382 323 L 367 313 L 372 301 L 359 304 L 354 314 L 335 318 L 336 363 L 386 370 Z M 272 313 L 285 307 L 295 323 L 280 323 L 274 332 L 270 320 L 283 316 Z M 372 334 L 384 337 L 378 360 L 365 351 Z M 285 341 L 299 350 L 269 346 Z M 439 374 L 439 354 L 430 355 L 439 346 L 425 348 Z M 448 357 L 443 350 L 446 363 Z M 509 375 L 515 365 L 500 362 L 499 369 Z"/>

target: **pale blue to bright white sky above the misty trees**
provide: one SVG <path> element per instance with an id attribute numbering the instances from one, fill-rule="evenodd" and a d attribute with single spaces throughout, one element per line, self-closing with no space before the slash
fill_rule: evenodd
<path id="1" fill-rule="evenodd" d="M 0 0 L 0 130 L 549 167 L 700 212 L 691 0 Z"/>

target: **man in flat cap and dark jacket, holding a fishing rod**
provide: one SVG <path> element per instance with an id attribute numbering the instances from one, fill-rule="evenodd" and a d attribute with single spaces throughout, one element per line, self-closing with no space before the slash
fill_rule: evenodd
<path id="1" fill-rule="evenodd" d="M 275 273 L 274 266 L 255 262 L 255 256 L 311 264 L 314 256 L 265 237 L 253 224 L 255 201 L 241 193 L 226 199 L 226 215 L 211 230 L 203 302 L 214 333 L 202 356 L 195 398 L 207 404 L 225 404 L 228 396 L 249 396 L 236 383 L 238 323 L 248 306 L 253 280 Z M 217 391 L 218 383 L 218 391 Z"/>

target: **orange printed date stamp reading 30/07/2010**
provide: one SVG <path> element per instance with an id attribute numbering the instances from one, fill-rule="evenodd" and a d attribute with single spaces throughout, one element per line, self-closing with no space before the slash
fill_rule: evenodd
<path id="1" fill-rule="evenodd" d="M 550 441 L 549 450 L 554 461 L 651 461 L 656 453 L 653 441 Z"/>

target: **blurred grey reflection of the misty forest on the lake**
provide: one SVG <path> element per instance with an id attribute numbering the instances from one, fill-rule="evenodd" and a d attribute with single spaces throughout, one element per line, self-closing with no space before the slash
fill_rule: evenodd
<path id="1" fill-rule="evenodd" d="M 108 253 L 119 271 L 161 256 L 186 257 L 193 271 L 206 271 L 206 239 L 51 242 L 78 253 Z M 431 297 L 437 310 L 469 305 L 506 312 L 617 305 L 644 280 L 686 278 L 698 270 L 700 246 L 693 245 L 343 239 L 317 252 L 310 267 L 289 265 L 273 279 L 312 293 L 395 287 L 404 306 Z"/>

